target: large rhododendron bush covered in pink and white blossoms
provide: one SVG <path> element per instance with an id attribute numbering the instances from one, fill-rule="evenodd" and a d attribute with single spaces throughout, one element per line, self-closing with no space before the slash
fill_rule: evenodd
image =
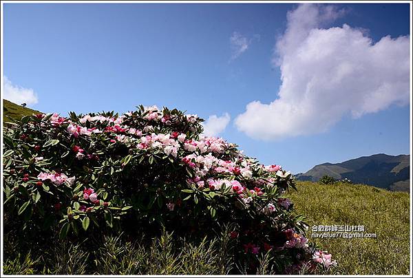
<path id="1" fill-rule="evenodd" d="M 328 268 L 326 251 L 283 193 L 290 172 L 264 166 L 202 119 L 177 109 L 25 116 L 3 134 L 4 209 L 23 230 L 61 239 L 105 233 L 204 236 L 233 223 L 235 256 L 251 271 L 271 253 L 278 272 Z"/>

